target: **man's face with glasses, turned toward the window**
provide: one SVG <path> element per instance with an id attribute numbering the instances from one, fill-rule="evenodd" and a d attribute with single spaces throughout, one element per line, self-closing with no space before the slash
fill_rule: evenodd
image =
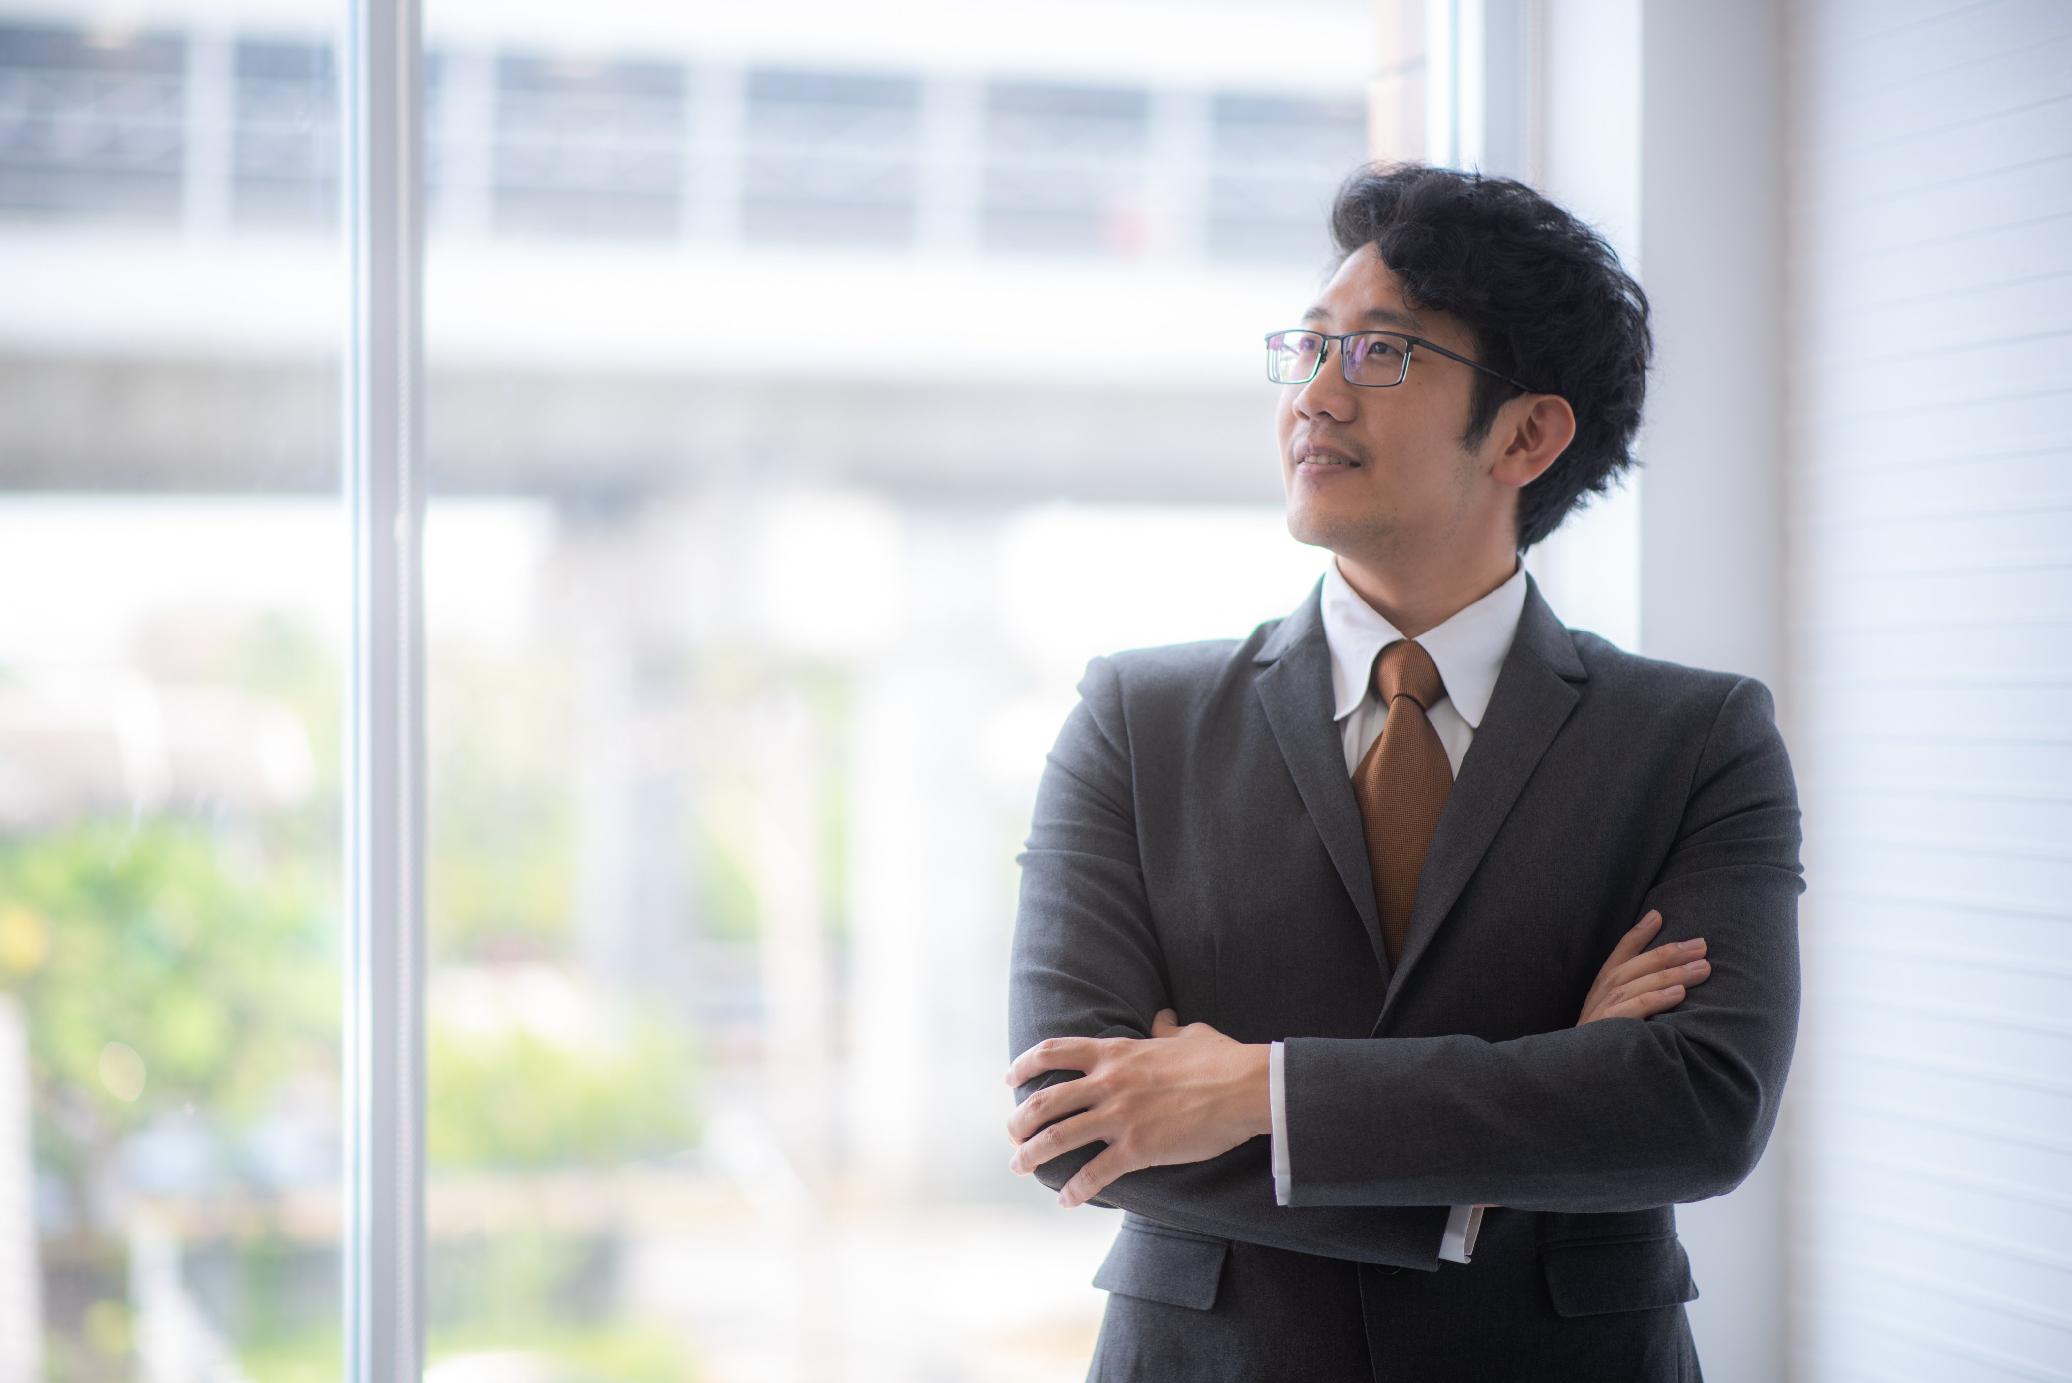
<path id="1" fill-rule="evenodd" d="M 1444 313 L 1415 313 L 1374 246 L 1351 255 L 1303 317 L 1305 327 L 1405 331 L 1475 356 L 1475 342 Z M 1409 377 L 1388 389 L 1345 383 L 1339 346 L 1316 379 L 1283 385 L 1274 426 L 1289 532 L 1299 542 L 1368 559 L 1407 559 L 1444 547 L 1500 503 L 1479 458 L 1463 447 L 1475 371 L 1411 352 Z M 1479 524 L 1477 524 L 1479 526 Z"/>

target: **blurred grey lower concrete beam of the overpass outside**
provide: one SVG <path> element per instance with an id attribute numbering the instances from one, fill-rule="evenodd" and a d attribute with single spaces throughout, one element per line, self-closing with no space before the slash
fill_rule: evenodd
<path id="1" fill-rule="evenodd" d="M 970 503 L 1272 501 L 1247 389 L 437 371 L 441 495 L 624 503 L 713 482 Z M 0 356 L 10 491 L 332 493 L 336 373 L 193 358 Z"/>

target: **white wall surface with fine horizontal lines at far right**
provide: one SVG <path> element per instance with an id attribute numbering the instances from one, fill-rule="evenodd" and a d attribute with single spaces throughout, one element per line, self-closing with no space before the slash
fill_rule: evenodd
<path id="1" fill-rule="evenodd" d="M 2072 6 L 1792 12 L 1803 1379 L 2072 1379 Z"/>

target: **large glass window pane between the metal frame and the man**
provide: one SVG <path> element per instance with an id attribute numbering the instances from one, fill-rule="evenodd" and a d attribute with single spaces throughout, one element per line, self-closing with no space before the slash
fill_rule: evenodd
<path id="1" fill-rule="evenodd" d="M 427 8 L 433 1383 L 1086 1373 L 1117 1217 L 1005 1172 L 1015 853 L 1088 656 L 1322 569 L 1260 364 L 1322 209 L 1210 251 L 1214 93 L 1357 108 L 1370 48 L 966 8 Z M 512 234 L 470 141 L 636 68 L 673 228 L 572 234 L 659 128 L 580 106 Z"/>

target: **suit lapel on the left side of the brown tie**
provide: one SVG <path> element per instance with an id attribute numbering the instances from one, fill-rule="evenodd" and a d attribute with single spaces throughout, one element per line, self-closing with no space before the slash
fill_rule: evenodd
<path id="1" fill-rule="evenodd" d="M 1359 834 L 1359 803 L 1353 801 L 1353 778 L 1345 772 L 1345 743 L 1332 718 L 1330 646 L 1324 642 L 1318 592 L 1310 592 L 1310 598 L 1280 621 L 1256 660 L 1268 665 L 1256 681 L 1266 723 L 1295 778 L 1295 791 L 1301 793 L 1303 807 L 1324 838 L 1324 851 L 1339 867 L 1345 890 L 1353 894 L 1353 907 L 1359 909 L 1359 921 L 1374 946 L 1374 961 L 1386 977 L 1388 948 L 1382 946 L 1382 917 L 1374 905 L 1368 843 Z"/>

